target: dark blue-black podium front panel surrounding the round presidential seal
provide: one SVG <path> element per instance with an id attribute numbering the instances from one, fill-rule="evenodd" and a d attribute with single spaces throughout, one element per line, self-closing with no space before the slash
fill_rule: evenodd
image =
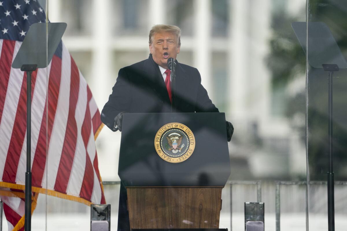
<path id="1" fill-rule="evenodd" d="M 195 149 L 183 162 L 163 160 L 154 147 L 168 123 L 186 125 Z M 126 187 L 224 186 L 230 161 L 224 113 L 131 113 L 123 118 L 118 175 Z"/>

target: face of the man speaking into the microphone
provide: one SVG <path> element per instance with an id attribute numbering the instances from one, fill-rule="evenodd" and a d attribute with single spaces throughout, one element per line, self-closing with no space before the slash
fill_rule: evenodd
<path id="1" fill-rule="evenodd" d="M 155 33 L 150 44 L 154 62 L 165 69 L 168 69 L 169 58 L 176 59 L 179 48 L 176 35 L 170 32 Z"/>

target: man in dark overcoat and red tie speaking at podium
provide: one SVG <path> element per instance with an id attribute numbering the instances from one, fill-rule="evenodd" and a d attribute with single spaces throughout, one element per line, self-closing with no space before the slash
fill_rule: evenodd
<path id="1" fill-rule="evenodd" d="M 122 130 L 124 113 L 219 112 L 201 85 L 199 71 L 177 62 L 180 35 L 177 26 L 153 26 L 148 59 L 119 70 L 112 94 L 101 112 L 101 121 L 112 131 Z M 174 86 L 168 67 L 170 58 L 176 63 Z M 234 131 L 230 122 L 226 122 L 226 130 L 230 141 Z M 130 230 L 126 200 L 126 189 L 121 184 L 118 230 Z"/>

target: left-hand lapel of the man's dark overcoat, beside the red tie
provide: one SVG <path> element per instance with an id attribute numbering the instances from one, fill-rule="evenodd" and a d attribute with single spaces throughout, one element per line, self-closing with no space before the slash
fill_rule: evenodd
<path id="1" fill-rule="evenodd" d="M 161 75 L 158 64 L 156 64 L 150 54 L 149 58 L 144 62 L 143 67 L 145 79 L 149 87 L 158 95 L 164 102 L 170 104 L 170 98 L 165 86 L 165 82 Z"/>

